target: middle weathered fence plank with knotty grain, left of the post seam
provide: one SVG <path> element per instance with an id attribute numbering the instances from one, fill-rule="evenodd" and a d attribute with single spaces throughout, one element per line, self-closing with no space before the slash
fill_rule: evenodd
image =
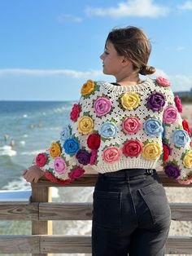
<path id="1" fill-rule="evenodd" d="M 39 218 L 38 203 L 30 205 L 0 205 L 0 219 L 9 220 L 37 220 Z"/>

